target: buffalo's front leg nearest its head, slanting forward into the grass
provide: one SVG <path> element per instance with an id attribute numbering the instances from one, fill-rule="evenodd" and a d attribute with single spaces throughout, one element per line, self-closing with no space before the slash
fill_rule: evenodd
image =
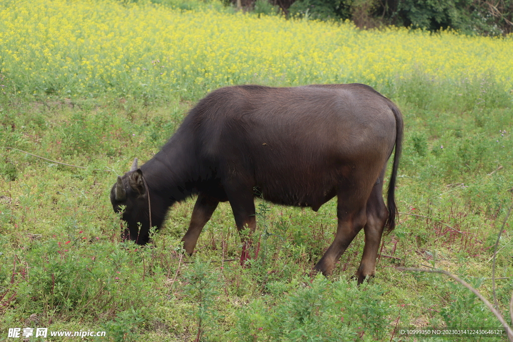
<path id="1" fill-rule="evenodd" d="M 200 193 L 196 204 L 192 210 L 191 222 L 189 223 L 189 229 L 185 233 L 182 241 L 184 242 L 185 251 L 191 255 L 196 247 L 200 233 L 203 227 L 207 224 L 215 208 L 218 207 L 219 200 L 210 197 L 206 194 Z"/>

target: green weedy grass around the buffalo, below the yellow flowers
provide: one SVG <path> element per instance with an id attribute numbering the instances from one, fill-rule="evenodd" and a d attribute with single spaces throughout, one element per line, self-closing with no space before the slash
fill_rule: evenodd
<path id="1" fill-rule="evenodd" d="M 0 146 L 86 169 L 1 150 L 1 339 L 8 328 L 36 327 L 27 320 L 33 314 L 40 327 L 104 330 L 113 341 L 415 340 L 394 327 L 499 327 L 479 299 L 447 278 L 395 268 L 442 268 L 491 298 L 490 259 L 513 187 L 511 97 L 488 78 L 454 85 L 421 74 L 381 90 L 405 118 L 403 214 L 383 238 L 376 278 L 361 287 L 349 279 L 363 234 L 333 276 L 305 275 L 332 241 L 334 200 L 318 213 L 257 201 L 259 254 L 246 267 L 230 260 L 240 256 L 241 240 L 227 203 L 193 257 L 180 247 L 193 200 L 171 208 L 152 246 L 120 242 L 109 202 L 116 175 L 134 157 L 151 158 L 192 103 L 4 99 Z M 499 248 L 505 311 L 513 290 L 510 223 Z"/>

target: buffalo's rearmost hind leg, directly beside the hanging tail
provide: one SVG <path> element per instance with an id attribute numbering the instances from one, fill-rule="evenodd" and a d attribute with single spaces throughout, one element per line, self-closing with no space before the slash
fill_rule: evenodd
<path id="1" fill-rule="evenodd" d="M 374 185 L 370 197 L 367 200 L 367 224 L 363 228 L 365 232 L 365 246 L 363 248 L 362 261 L 355 274 L 358 284 L 362 284 L 366 277 L 373 277 L 376 273 L 376 259 L 381 243 L 381 236 L 388 217 L 388 211 L 383 202 L 383 179 Z"/>

